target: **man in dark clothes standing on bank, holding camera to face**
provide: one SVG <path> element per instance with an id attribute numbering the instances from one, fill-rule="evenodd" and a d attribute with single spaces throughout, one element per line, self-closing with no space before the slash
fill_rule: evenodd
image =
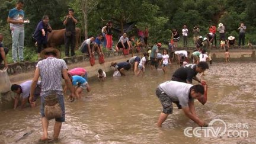
<path id="1" fill-rule="evenodd" d="M 71 44 L 71 56 L 75 56 L 75 25 L 78 23 L 75 17 L 73 17 L 74 11 L 69 8 L 63 24 L 66 27 L 65 31 L 65 56 L 69 56 L 69 45 Z"/>

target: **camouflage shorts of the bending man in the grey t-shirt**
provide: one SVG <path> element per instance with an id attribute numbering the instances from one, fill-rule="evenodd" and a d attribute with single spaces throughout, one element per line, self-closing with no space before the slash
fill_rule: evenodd
<path id="1" fill-rule="evenodd" d="M 168 95 L 162 92 L 159 88 L 156 88 L 156 97 L 159 98 L 162 104 L 162 107 L 163 107 L 162 113 L 172 114 L 172 110 L 173 110 L 172 102 L 178 103 L 178 101 L 175 101 L 171 97 L 168 97 Z"/>

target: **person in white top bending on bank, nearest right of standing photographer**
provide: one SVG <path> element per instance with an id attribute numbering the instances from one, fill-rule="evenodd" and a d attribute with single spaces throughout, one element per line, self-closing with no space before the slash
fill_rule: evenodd
<path id="1" fill-rule="evenodd" d="M 85 53 L 85 55 L 89 55 L 89 57 L 92 57 L 92 47 L 93 47 L 93 41 L 95 40 L 94 37 L 91 37 L 87 40 L 85 40 L 81 47 L 80 47 L 80 51 L 82 53 Z"/>

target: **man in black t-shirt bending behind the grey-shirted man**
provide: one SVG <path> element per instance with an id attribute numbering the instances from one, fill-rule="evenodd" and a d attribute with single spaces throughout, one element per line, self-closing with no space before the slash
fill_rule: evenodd
<path id="1" fill-rule="evenodd" d="M 174 74 L 172 75 L 171 80 L 172 81 L 178 81 L 178 82 L 184 82 L 188 84 L 192 84 L 192 79 L 198 81 L 201 83 L 201 80 L 197 78 L 197 73 L 202 73 L 206 71 L 206 69 L 209 69 L 209 65 L 207 62 L 199 62 L 196 64 L 188 64 L 185 66 L 181 66 L 178 68 Z M 203 97 L 201 100 L 199 100 L 201 104 L 206 103 L 206 97 Z M 180 107 L 180 105 L 177 105 Z"/>

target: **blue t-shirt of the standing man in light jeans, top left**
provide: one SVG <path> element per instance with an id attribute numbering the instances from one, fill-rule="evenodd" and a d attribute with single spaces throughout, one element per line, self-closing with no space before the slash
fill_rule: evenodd
<path id="1" fill-rule="evenodd" d="M 24 20 L 24 11 L 23 10 L 18 10 L 17 8 L 13 8 L 9 11 L 8 17 L 13 19 L 13 20 Z M 24 24 L 12 24 L 10 23 L 10 28 L 20 28 L 24 29 Z"/>

